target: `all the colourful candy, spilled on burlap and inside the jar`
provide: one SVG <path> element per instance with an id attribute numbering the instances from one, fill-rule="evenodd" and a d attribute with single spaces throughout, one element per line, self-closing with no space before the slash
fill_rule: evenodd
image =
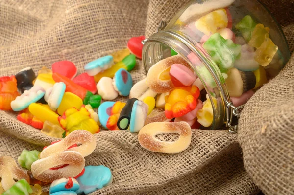
<path id="1" fill-rule="evenodd" d="M 270 29 L 256 24 L 250 16 L 234 26 L 239 36 L 232 31 L 228 9 L 202 16 L 195 27 L 203 33 L 201 45 L 218 65 L 235 106 L 245 104 L 258 87 L 268 82 L 268 65 L 283 63 L 269 38 Z M 22 152 L 18 162 L 31 169 L 29 175 L 11 157 L 2 156 L 0 193 L 45 195 L 41 194 L 40 185 L 52 183 L 50 194 L 76 195 L 109 185 L 109 168 L 85 167 L 84 157 L 96 147 L 93 134 L 100 131 L 99 125 L 107 130 L 139 132 L 143 148 L 163 153 L 186 150 L 192 128 L 211 126 L 213 105 L 217 107 L 214 93 L 211 91 L 209 98 L 192 67 L 174 50 L 170 57 L 153 65 L 146 78 L 133 85 L 129 71 L 136 65 L 136 57 L 142 58 L 144 39 L 130 39 L 128 48 L 88 63 L 85 73 L 78 76 L 72 62 L 60 61 L 51 70 L 39 70 L 37 77 L 28 67 L 14 76 L 0 78 L 0 109 L 19 111 L 19 121 L 49 136 L 64 138 L 42 152 Z M 187 57 L 201 66 L 194 53 Z M 208 88 L 215 87 L 205 71 L 199 74 Z M 129 99 L 112 102 L 119 95 Z M 102 100 L 106 101 L 101 104 Z M 174 142 L 156 138 L 158 134 L 170 133 L 179 134 L 179 138 Z"/>

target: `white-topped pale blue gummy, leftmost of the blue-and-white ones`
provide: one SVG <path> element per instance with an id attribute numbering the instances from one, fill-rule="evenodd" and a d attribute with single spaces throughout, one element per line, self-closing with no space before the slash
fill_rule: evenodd
<path id="1" fill-rule="evenodd" d="M 28 91 L 24 91 L 21 96 L 16 97 L 10 105 L 13 111 L 21 111 L 27 108 L 31 103 L 35 103 L 45 95 L 43 87 L 34 86 Z"/>

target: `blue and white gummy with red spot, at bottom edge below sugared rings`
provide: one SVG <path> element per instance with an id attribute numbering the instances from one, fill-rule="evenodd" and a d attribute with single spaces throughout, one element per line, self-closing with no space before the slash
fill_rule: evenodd
<path id="1" fill-rule="evenodd" d="M 74 178 L 61 178 L 50 185 L 50 195 L 77 195 L 75 191 L 80 188 L 79 183 Z"/>

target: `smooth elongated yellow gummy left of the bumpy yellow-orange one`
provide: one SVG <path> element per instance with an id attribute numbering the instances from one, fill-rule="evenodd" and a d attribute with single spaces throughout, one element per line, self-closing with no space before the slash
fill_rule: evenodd
<path id="1" fill-rule="evenodd" d="M 28 110 L 42 122 L 50 121 L 55 125 L 59 125 L 58 114 L 53 112 L 48 105 L 32 103 L 29 105 Z"/>

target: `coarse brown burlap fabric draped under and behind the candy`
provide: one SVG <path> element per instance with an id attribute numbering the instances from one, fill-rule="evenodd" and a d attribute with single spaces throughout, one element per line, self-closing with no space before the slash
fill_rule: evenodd
<path id="1" fill-rule="evenodd" d="M 74 62 L 81 72 L 82 66 L 87 62 L 125 48 L 130 37 L 142 34 L 150 36 L 156 31 L 161 20 L 169 21 L 187 1 L 2 0 L 0 1 L 0 76 L 15 74 L 27 66 L 32 66 L 37 71 L 42 66 L 50 67 L 53 62 L 59 60 Z M 285 5 L 286 1 L 277 1 L 277 3 Z M 272 10 L 277 11 L 276 7 Z M 279 22 L 285 26 L 285 34 L 293 50 L 293 28 L 286 27 L 290 24 L 289 21 L 281 17 Z M 288 75 L 289 83 L 284 83 L 290 84 L 290 71 L 291 65 L 289 64 L 288 68 L 283 71 L 283 73 L 288 72 L 283 75 Z M 135 82 L 144 76 L 140 61 L 132 71 L 132 76 Z M 282 80 L 281 78 L 284 77 L 280 75 L 279 78 Z M 266 87 L 269 87 L 271 83 Z M 261 89 L 258 94 L 263 93 L 264 96 L 268 95 L 270 98 L 277 91 L 283 91 L 282 94 L 285 94 L 289 89 L 286 96 L 279 94 L 275 99 L 270 98 L 275 101 L 284 100 L 280 103 L 272 103 L 277 108 L 276 115 L 272 117 L 277 119 L 277 116 L 284 113 L 281 111 L 283 108 L 278 107 L 279 104 L 292 105 L 290 102 L 286 103 L 286 100 L 290 99 L 291 88 L 290 85 L 283 90 L 277 85 L 275 85 L 276 91 L 273 91 L 272 88 L 274 87 L 266 89 L 272 93 L 267 94 L 266 90 L 262 92 L 263 89 Z M 255 106 L 254 108 L 262 106 L 258 104 L 259 100 L 256 97 L 257 95 L 249 103 Z M 263 97 L 261 99 L 264 100 Z M 268 186 L 266 188 L 267 183 L 262 181 L 265 178 L 268 179 L 266 177 L 268 175 L 254 173 L 261 170 L 260 166 L 258 170 L 250 167 L 250 163 L 253 163 L 254 168 L 258 168 L 256 163 L 260 163 L 257 159 L 254 161 L 257 154 L 254 151 L 251 152 L 251 149 L 256 149 L 254 144 L 257 144 L 258 140 L 255 140 L 255 135 L 247 136 L 249 130 L 258 131 L 258 127 L 252 125 L 254 119 L 258 119 L 259 123 L 262 119 L 271 121 L 270 114 L 267 118 L 264 116 L 254 118 L 253 115 L 256 115 L 252 113 L 254 110 L 248 107 L 245 108 L 242 115 L 241 121 L 244 124 L 240 127 L 245 166 L 257 185 L 265 192 L 273 194 L 272 190 L 276 189 L 268 188 Z M 287 110 L 289 108 L 291 107 L 287 107 Z M 287 116 L 291 116 L 291 113 L 289 110 Z M 245 116 L 247 116 L 246 119 Z M 278 127 L 272 133 L 280 132 L 283 135 L 286 133 L 289 135 L 291 130 L 293 132 L 293 128 L 290 129 L 291 120 L 287 121 L 288 123 L 281 124 L 283 126 L 276 123 Z M 285 129 L 282 130 L 281 127 Z M 271 132 L 269 128 L 272 126 L 269 125 L 265 133 L 259 137 L 267 138 L 265 135 L 270 135 Z M 226 130 L 193 130 L 191 146 L 186 151 L 175 155 L 148 152 L 141 148 L 136 134 L 126 131 L 102 131 L 95 137 L 98 145 L 93 154 L 86 157 L 86 164 L 109 167 L 112 170 L 114 182 L 111 186 L 92 193 L 93 195 L 254 195 L 259 192 L 244 169 L 237 136 L 229 134 Z M 167 139 L 163 136 L 159 138 Z M 282 141 L 286 143 L 287 137 L 281 140 L 278 138 L 279 136 L 270 138 L 276 144 L 272 147 L 267 146 L 267 149 L 276 148 L 274 151 L 277 156 L 273 159 L 278 156 L 281 159 L 290 159 L 291 156 L 287 157 L 286 150 L 278 153 L 284 149 L 278 147 L 279 143 Z M 0 111 L 0 155 L 11 155 L 17 159 L 23 149 L 41 150 L 42 146 L 48 145 L 51 141 L 55 139 L 20 123 L 13 113 Z M 246 148 L 247 144 L 250 147 Z M 293 149 L 293 145 L 289 144 Z M 247 151 L 250 152 L 247 153 Z M 269 158 L 267 154 L 264 154 L 263 157 L 264 159 Z M 270 165 L 275 166 L 274 169 L 278 170 L 284 164 L 285 161 L 281 164 L 269 164 L 267 170 L 273 169 Z M 290 168 L 285 167 L 284 169 L 291 171 Z M 277 176 L 279 175 L 275 172 L 272 178 L 277 178 Z M 287 181 L 282 180 L 281 183 L 285 184 L 285 182 Z M 283 189 L 287 188 L 285 185 L 283 187 Z"/>

